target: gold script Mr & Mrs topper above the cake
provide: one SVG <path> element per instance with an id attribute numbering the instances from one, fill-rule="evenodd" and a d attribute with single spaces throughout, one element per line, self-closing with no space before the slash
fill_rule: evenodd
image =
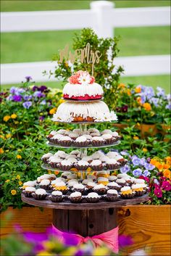
<path id="1" fill-rule="evenodd" d="M 64 46 L 64 49 L 59 50 L 59 62 L 62 62 L 63 59 L 66 61 L 70 61 L 72 64 L 75 63 L 78 59 L 81 63 L 92 63 L 92 75 L 93 75 L 93 68 L 95 63 L 99 63 L 100 57 L 99 50 L 93 51 L 91 50 L 91 44 L 86 44 L 86 47 L 83 49 L 76 49 L 73 53 L 69 51 L 69 45 L 67 44 Z"/>

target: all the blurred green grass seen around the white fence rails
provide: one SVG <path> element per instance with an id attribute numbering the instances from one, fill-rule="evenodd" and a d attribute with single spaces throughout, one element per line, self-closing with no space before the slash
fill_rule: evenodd
<path id="1" fill-rule="evenodd" d="M 114 8 L 169 7 L 170 1 L 122 1 L 114 0 Z M 33 12 L 90 9 L 91 1 L 7 1 L 1 0 L 1 12 Z M 28 21 L 29 22 L 29 21 Z M 70 21 L 69 21 L 70 22 Z M 72 22 L 72 21 L 71 21 Z M 79 21 L 78 21 L 79 22 Z M 35 32 L 1 33 L 1 63 L 51 61 L 52 56 L 79 30 L 51 30 Z M 148 26 L 138 28 L 114 28 L 114 36 L 121 36 L 119 57 L 170 54 L 170 26 Z M 42 70 L 43 71 L 43 70 Z M 9 74 L 10 75 L 10 74 Z M 25 74 L 31 75 L 31 74 Z M 20 78 L 23 80 L 23 78 Z M 34 79 L 34 78 L 33 78 Z M 36 82 L 39 82 L 36 80 Z M 138 83 L 170 92 L 170 75 L 137 75 L 122 77 L 123 83 Z M 46 86 L 60 88 L 61 83 L 43 82 Z M 2 88 L 12 86 L 3 84 Z M 15 84 L 17 86 L 17 84 Z"/>

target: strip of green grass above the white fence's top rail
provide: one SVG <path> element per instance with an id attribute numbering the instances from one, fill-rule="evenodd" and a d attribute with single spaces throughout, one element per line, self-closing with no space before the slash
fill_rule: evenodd
<path id="1" fill-rule="evenodd" d="M 117 8 L 128 7 L 164 7 L 170 6 L 170 1 L 112 1 Z M 91 1 L 38 1 L 38 0 L 20 0 L 20 1 L 3 1 L 1 0 L 1 12 L 29 12 L 29 11 L 46 11 L 61 9 L 89 9 Z"/>

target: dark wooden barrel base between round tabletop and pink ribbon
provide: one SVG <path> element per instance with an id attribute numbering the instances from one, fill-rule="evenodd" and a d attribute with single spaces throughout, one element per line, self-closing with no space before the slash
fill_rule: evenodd
<path id="1" fill-rule="evenodd" d="M 95 236 L 117 227 L 117 208 L 98 210 L 53 210 L 53 224 L 61 231 Z"/>

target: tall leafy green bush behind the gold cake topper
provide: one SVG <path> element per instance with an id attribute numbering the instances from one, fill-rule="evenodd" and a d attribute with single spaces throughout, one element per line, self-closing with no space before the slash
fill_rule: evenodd
<path id="1" fill-rule="evenodd" d="M 115 57 L 119 53 L 118 49 L 119 39 L 114 38 L 98 38 L 96 33 L 91 28 L 84 28 L 80 34 L 75 34 L 73 38 L 72 49 L 84 49 L 86 44 L 91 44 L 92 51 L 99 51 L 101 54 L 100 62 L 94 65 L 94 77 L 96 82 L 104 88 L 104 101 L 107 102 L 110 109 L 114 109 L 116 106 L 117 95 L 119 94 L 120 88 L 118 83 L 120 80 L 120 74 L 123 72 L 121 66 L 116 67 L 114 63 Z M 110 56 L 110 57 L 109 57 Z M 62 63 L 59 62 L 59 54 L 55 55 L 53 60 L 57 60 L 58 66 L 54 71 L 54 76 L 57 79 L 62 78 L 66 81 L 72 74 L 72 66 L 67 59 L 63 59 Z M 92 63 L 81 63 L 80 60 L 75 62 L 74 71 L 87 70 L 91 73 Z M 115 71 L 113 71 L 115 70 Z M 51 73 L 52 75 L 53 73 Z"/>

